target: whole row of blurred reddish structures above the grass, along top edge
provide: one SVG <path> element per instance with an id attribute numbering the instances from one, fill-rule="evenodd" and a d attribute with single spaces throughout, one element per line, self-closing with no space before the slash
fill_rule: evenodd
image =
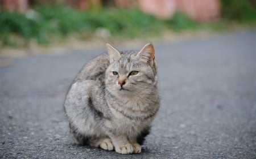
<path id="1" fill-rule="evenodd" d="M 11 11 L 26 12 L 31 2 L 36 0 L 0 0 L 0 8 Z M 40 3 L 66 2 L 80 10 L 99 8 L 104 3 L 114 2 L 118 7 L 138 6 L 144 12 L 170 19 L 177 10 L 183 11 L 190 18 L 209 21 L 220 16 L 220 0 L 37 0 Z"/>

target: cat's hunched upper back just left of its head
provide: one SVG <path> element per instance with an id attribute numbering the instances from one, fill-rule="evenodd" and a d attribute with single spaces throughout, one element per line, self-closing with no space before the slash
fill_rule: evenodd
<path id="1" fill-rule="evenodd" d="M 76 76 L 76 81 L 100 80 L 104 81 L 106 68 L 109 66 L 109 55 L 101 54 L 91 59 L 82 67 L 80 73 Z"/>

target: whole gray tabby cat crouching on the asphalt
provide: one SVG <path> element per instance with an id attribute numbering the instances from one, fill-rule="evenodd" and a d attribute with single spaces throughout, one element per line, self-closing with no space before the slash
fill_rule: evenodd
<path id="1" fill-rule="evenodd" d="M 118 51 L 90 60 L 77 75 L 64 108 L 76 144 L 122 154 L 141 153 L 160 106 L 155 51 Z"/>

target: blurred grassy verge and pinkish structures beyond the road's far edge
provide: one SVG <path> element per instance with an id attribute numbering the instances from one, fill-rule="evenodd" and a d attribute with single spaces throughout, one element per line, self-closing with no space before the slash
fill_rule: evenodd
<path id="1" fill-rule="evenodd" d="M 255 24 L 256 0 L 0 0 L 2 49 L 166 38 Z"/>

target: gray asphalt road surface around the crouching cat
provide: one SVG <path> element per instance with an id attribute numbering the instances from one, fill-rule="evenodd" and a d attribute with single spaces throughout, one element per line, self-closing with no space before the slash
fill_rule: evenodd
<path id="1" fill-rule="evenodd" d="M 162 105 L 141 154 L 69 140 L 65 93 L 102 51 L 28 55 L 0 68 L 0 158 L 256 158 L 255 30 L 156 42 Z"/>

